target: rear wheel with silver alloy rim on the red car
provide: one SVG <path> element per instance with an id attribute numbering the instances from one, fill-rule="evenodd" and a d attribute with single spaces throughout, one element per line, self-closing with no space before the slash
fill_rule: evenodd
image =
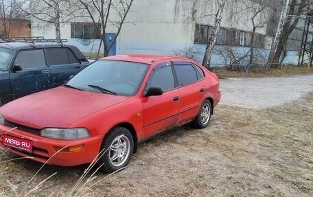
<path id="1" fill-rule="evenodd" d="M 209 125 L 211 119 L 212 106 L 209 100 L 202 102 L 196 118 L 192 121 L 194 128 L 205 128 Z"/>

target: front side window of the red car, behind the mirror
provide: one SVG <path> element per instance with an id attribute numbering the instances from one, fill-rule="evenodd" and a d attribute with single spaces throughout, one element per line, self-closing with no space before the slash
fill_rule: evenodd
<path id="1" fill-rule="evenodd" d="M 175 88 L 174 76 L 172 67 L 170 64 L 163 64 L 157 66 L 152 78 L 150 79 L 149 87 L 159 87 L 165 91 L 169 91 Z"/>

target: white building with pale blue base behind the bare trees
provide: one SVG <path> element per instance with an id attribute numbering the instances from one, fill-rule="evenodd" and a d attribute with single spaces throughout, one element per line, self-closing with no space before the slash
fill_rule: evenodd
<path id="1" fill-rule="evenodd" d="M 177 2 L 178 6 L 175 4 Z M 111 54 L 177 54 L 192 49 L 196 59 L 201 62 L 214 22 L 212 16 L 202 15 L 215 14 L 216 1 L 209 0 L 206 5 L 202 4 L 202 1 L 198 1 L 198 4 L 183 2 L 185 1 L 134 1 Z M 254 1 L 233 2 L 237 1 L 231 1 L 224 8 L 218 45 L 211 58 L 212 64 L 228 63 L 231 61 L 231 53 L 244 56 L 250 49 L 253 30 L 251 18 L 259 7 Z M 255 17 L 255 23 L 260 26 L 255 30 L 254 42 L 256 54 L 261 56 L 259 62 L 262 62 L 262 59 L 266 62 L 273 39 L 273 35 L 268 34 L 268 17 L 272 12 L 272 8 L 266 8 Z M 55 38 L 54 26 L 39 28 L 36 23 L 38 21 L 32 21 L 32 36 Z M 85 53 L 95 53 L 99 48 L 100 40 L 92 39 L 93 31 L 95 28 L 87 18 L 73 19 L 62 24 L 60 30 L 61 38 L 67 39 L 70 44 L 78 46 Z M 117 30 L 112 26 L 106 32 L 111 33 L 107 34 L 107 38 L 110 38 Z M 289 58 L 288 61 L 297 62 L 294 58 Z"/>

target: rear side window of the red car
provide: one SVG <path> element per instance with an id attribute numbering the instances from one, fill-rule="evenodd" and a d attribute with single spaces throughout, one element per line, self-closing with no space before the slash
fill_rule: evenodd
<path id="1" fill-rule="evenodd" d="M 185 86 L 198 81 L 197 71 L 192 65 L 174 65 L 178 86 Z"/>

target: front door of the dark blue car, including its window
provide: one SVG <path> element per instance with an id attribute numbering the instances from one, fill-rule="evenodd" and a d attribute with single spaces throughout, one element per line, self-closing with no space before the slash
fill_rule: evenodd
<path id="1" fill-rule="evenodd" d="M 14 66 L 19 69 L 14 70 Z M 10 79 L 14 99 L 48 89 L 49 69 L 43 49 L 19 51 L 10 71 Z"/>

